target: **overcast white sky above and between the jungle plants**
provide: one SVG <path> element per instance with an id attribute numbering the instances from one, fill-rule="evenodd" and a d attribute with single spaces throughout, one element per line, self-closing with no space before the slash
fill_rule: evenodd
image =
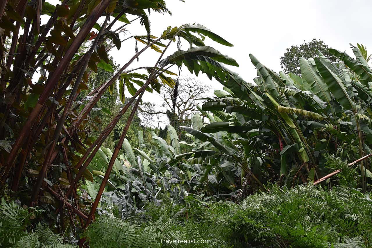
<path id="1" fill-rule="evenodd" d="M 346 51 L 352 56 L 349 43 L 361 43 L 372 51 L 370 0 L 185 0 L 185 3 L 166 0 L 166 4 L 173 16 L 151 12 L 152 35 L 160 36 L 167 26 L 201 24 L 234 45 L 226 47 L 208 38 L 205 40 L 206 45 L 234 58 L 240 67 L 228 68 L 240 74 L 247 82 L 253 82 L 252 79 L 256 77 L 256 69 L 249 59 L 250 53 L 265 66 L 279 72 L 280 57 L 286 48 L 313 38 L 322 39 L 329 47 Z M 128 19 L 134 17 L 128 16 Z M 122 39 L 131 35 L 146 35 L 139 20 L 127 28 L 126 35 L 121 34 Z M 187 50 L 186 41 L 182 44 L 182 49 Z M 122 66 L 135 54 L 134 45 L 134 39 L 129 39 L 120 50 L 113 48 L 110 55 Z M 143 46 L 138 43 L 140 50 Z M 174 44 L 166 55 L 176 49 Z M 159 55 L 153 50 L 145 52 L 140 56 L 140 61 L 133 63 L 129 69 L 154 66 Z M 183 68 L 181 75 L 192 76 L 186 68 Z M 211 96 L 213 90 L 222 89 L 216 80 L 211 81 L 205 75 L 199 74 L 197 80 L 212 86 Z M 126 95 L 129 96 L 129 93 Z M 146 92 L 144 101 L 160 105 L 161 96 Z"/>

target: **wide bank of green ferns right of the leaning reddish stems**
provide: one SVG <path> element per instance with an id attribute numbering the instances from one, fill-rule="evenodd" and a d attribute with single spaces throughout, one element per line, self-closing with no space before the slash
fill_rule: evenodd
<path id="1" fill-rule="evenodd" d="M 207 204 L 192 195 L 185 208 L 167 200 L 149 204 L 125 220 L 100 217 L 84 235 L 92 247 L 171 247 L 162 239 L 211 240 L 174 247 L 371 247 L 372 202 L 359 190 L 268 190 L 239 205 Z"/>

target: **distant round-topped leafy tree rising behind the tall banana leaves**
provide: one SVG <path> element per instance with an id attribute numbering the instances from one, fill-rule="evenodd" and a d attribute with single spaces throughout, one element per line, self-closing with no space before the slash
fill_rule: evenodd
<path id="1" fill-rule="evenodd" d="M 293 73 L 301 75 L 299 58 L 304 57 L 315 58 L 318 57 L 318 51 L 325 55 L 331 62 L 336 62 L 337 57 L 328 51 L 328 45 L 324 44 L 321 39 L 312 39 L 310 42 L 305 42 L 299 46 L 292 45 L 291 48 L 287 48 L 285 54 L 280 57 L 280 65 L 284 73 Z"/>

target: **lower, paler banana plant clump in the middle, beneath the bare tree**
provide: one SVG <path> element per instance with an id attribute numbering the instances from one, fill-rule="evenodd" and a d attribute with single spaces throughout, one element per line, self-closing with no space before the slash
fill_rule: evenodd
<path id="1" fill-rule="evenodd" d="M 185 182 L 190 181 L 194 170 L 182 159 L 192 152 L 180 154 L 176 130 L 170 125 L 168 130 L 171 144 L 153 133 L 150 141 L 153 147 L 148 152 L 145 152 L 142 130 L 138 132 L 138 148 L 133 149 L 128 140 L 124 140 L 124 153 L 115 159 L 101 200 L 106 207 L 115 203 L 123 214 L 129 214 L 148 201 L 158 202 L 159 194 L 169 194 L 174 200 L 183 203 L 188 190 L 183 184 L 187 185 Z M 94 178 L 93 182 L 86 182 L 86 188 L 93 199 L 111 157 L 111 150 L 101 146 L 88 167 Z"/>

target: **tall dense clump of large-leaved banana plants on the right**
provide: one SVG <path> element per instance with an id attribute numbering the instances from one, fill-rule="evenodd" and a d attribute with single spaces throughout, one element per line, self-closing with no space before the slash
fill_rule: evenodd
<path id="1" fill-rule="evenodd" d="M 321 53 L 300 58 L 302 77 L 275 73 L 250 54 L 257 69 L 254 83 L 219 63 L 197 68 L 228 77 L 217 77 L 224 90 L 215 91 L 200 109 L 209 124 L 196 121 L 184 129 L 197 149 L 214 147 L 240 166 L 242 184 L 247 174 L 259 179 L 258 185 L 267 178 L 285 179 L 288 186 L 296 178 L 314 181 L 328 172 L 325 152 L 350 160 L 371 153 L 372 69 L 358 47 L 352 50 L 356 58 L 331 49 L 341 60 L 337 64 Z M 360 166 L 364 188 L 368 163 Z"/>

